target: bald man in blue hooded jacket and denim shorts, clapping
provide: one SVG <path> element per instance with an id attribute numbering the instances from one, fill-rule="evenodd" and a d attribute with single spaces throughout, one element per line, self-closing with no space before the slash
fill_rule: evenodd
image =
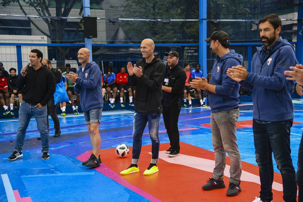
<path id="1" fill-rule="evenodd" d="M 72 74 L 67 74 L 66 78 L 76 82 L 74 89 L 76 93 L 80 94 L 80 104 L 93 147 L 92 155 L 87 161 L 82 162 L 82 165 L 99 167 L 101 163 L 99 155 L 101 144 L 99 123 L 103 108 L 102 72 L 99 65 L 89 61 L 89 56 L 87 48 L 80 48 L 78 60 L 81 66 L 76 74 L 72 72 Z"/>

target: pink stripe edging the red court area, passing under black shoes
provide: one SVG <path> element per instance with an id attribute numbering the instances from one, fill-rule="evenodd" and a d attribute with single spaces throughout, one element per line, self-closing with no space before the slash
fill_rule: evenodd
<path id="1" fill-rule="evenodd" d="M 79 156 L 76 157 L 76 159 L 80 161 L 85 161 L 89 158 L 91 154 L 86 151 L 83 154 L 80 154 Z M 96 171 L 99 173 L 104 174 L 106 177 L 111 178 L 112 180 L 115 180 L 119 184 L 123 185 L 124 187 L 127 187 L 128 189 L 134 191 L 135 193 L 141 195 L 142 197 L 147 198 L 148 200 L 151 201 L 157 201 L 161 202 L 162 200 L 152 196 L 151 194 L 148 194 L 147 192 L 143 191 L 142 189 L 130 184 L 128 181 L 126 181 L 123 177 L 121 177 L 119 174 L 117 174 L 115 171 L 113 171 L 110 167 L 108 167 L 105 164 L 101 164 L 100 167 L 95 168 Z"/>

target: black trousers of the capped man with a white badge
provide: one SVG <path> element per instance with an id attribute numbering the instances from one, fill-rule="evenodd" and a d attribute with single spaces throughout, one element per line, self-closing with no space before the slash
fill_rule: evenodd
<path id="1" fill-rule="evenodd" d="M 178 129 L 179 114 L 181 111 L 181 103 L 175 104 L 173 107 L 162 106 L 163 120 L 173 151 L 180 151 L 180 135 Z"/>

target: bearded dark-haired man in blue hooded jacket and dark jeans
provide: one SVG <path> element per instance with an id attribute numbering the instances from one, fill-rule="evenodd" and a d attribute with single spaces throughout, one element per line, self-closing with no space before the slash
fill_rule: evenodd
<path id="1" fill-rule="evenodd" d="M 294 48 L 279 37 L 282 22 L 271 14 L 259 20 L 263 46 L 257 47 L 251 72 L 242 66 L 229 68 L 227 74 L 253 94 L 253 133 L 256 162 L 261 182 L 260 197 L 253 202 L 272 201 L 274 169 L 272 153 L 283 182 L 283 200 L 296 201 L 297 185 L 291 160 L 290 128 L 294 113 L 291 92 L 294 81 L 286 80 L 284 71 L 298 61 Z"/>

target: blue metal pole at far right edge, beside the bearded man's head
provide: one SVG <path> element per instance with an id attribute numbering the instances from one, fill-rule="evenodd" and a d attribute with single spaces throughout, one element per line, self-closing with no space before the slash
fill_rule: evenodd
<path id="1" fill-rule="evenodd" d="M 301 20 L 299 20 L 301 19 Z M 296 57 L 300 64 L 303 63 L 303 0 L 298 5 L 298 28 L 297 28 L 297 44 L 296 44 Z"/>

